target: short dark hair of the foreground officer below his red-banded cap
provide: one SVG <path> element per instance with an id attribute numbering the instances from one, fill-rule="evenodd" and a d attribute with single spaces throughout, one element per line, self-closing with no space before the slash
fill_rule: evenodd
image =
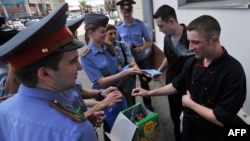
<path id="1" fill-rule="evenodd" d="M 17 79 L 28 87 L 36 87 L 38 83 L 37 70 L 40 67 L 48 67 L 53 70 L 59 70 L 58 64 L 61 61 L 64 52 L 56 52 L 48 57 L 38 60 L 28 66 L 15 70 Z"/>

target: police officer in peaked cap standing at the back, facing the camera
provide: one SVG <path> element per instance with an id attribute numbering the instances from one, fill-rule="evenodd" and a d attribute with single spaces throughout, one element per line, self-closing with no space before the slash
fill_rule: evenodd
<path id="1" fill-rule="evenodd" d="M 136 2 L 133 0 L 121 0 L 116 3 L 116 5 L 120 6 L 121 15 L 123 16 L 123 21 L 116 26 L 117 40 L 125 41 L 130 45 L 131 52 L 140 69 L 148 69 L 147 56 L 150 53 L 153 41 L 145 24 L 132 16 L 134 4 Z M 146 75 L 139 75 L 139 80 L 141 87 L 149 90 L 148 83 L 151 78 Z M 143 102 L 149 110 L 153 110 L 151 97 L 143 97 Z"/>

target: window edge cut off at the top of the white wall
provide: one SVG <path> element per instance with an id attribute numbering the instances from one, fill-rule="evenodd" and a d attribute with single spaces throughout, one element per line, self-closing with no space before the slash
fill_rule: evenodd
<path id="1" fill-rule="evenodd" d="M 237 9 L 250 7 L 250 0 L 178 0 L 180 9 Z"/>

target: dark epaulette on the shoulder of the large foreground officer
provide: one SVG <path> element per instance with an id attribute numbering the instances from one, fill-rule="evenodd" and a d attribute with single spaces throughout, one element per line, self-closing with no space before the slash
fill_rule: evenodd
<path id="1" fill-rule="evenodd" d="M 72 110 L 70 108 L 67 108 L 66 106 L 64 106 L 62 103 L 60 103 L 57 100 L 51 100 L 50 101 L 50 105 L 55 108 L 56 110 L 58 110 L 59 112 L 69 116 L 70 118 L 72 118 L 73 120 L 77 121 L 77 122 L 82 122 L 84 121 L 86 118 L 84 117 L 83 113 L 78 113 L 75 110 Z"/>

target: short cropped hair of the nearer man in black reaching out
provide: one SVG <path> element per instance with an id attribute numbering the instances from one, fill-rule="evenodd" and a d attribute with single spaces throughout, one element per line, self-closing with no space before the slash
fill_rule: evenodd
<path id="1" fill-rule="evenodd" d="M 221 27 L 219 22 L 209 15 L 202 15 L 189 23 L 188 31 L 197 31 L 203 35 L 207 41 L 214 35 L 220 36 Z"/>

